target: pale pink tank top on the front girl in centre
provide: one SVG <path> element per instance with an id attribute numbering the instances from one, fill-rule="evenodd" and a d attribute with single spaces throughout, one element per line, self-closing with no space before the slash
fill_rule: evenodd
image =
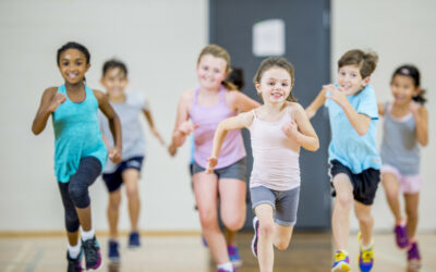
<path id="1" fill-rule="evenodd" d="M 265 186 L 274 190 L 289 190 L 300 186 L 300 154 L 291 149 L 293 140 L 281 127 L 292 120 L 287 113 L 278 122 L 257 119 L 250 128 L 253 150 L 253 170 L 250 188 Z"/>

